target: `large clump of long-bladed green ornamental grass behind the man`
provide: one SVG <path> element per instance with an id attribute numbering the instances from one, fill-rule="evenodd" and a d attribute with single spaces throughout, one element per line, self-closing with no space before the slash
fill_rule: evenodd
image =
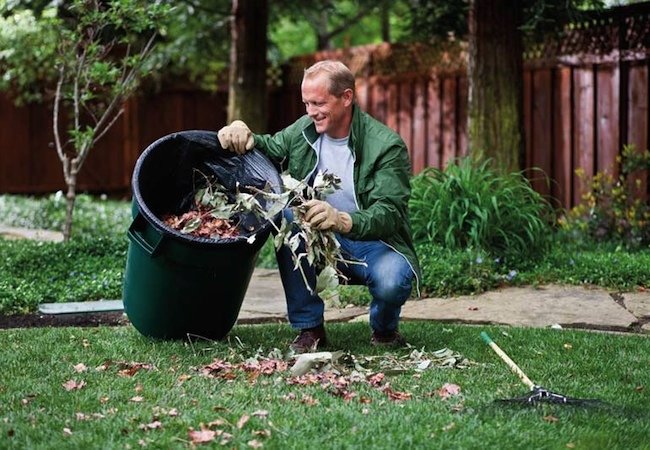
<path id="1" fill-rule="evenodd" d="M 522 173 L 499 174 L 469 158 L 442 171 L 427 168 L 411 181 L 414 240 L 448 249 L 475 249 L 513 266 L 548 249 L 553 208 Z"/>

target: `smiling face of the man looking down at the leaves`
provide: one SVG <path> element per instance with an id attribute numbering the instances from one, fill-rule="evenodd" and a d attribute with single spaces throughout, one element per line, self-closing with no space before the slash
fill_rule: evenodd
<path id="1" fill-rule="evenodd" d="M 318 133 L 333 138 L 346 137 L 352 118 L 352 90 L 341 96 L 329 92 L 327 74 L 318 74 L 302 81 L 302 102 Z"/>

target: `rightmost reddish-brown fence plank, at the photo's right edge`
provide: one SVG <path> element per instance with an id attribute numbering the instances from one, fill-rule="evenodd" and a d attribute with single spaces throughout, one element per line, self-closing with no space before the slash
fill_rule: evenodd
<path id="1" fill-rule="evenodd" d="M 648 149 L 648 63 L 633 64 L 629 69 L 628 82 L 628 144 L 633 144 L 636 151 Z M 630 177 L 636 198 L 647 201 L 648 171 L 635 173 Z"/>

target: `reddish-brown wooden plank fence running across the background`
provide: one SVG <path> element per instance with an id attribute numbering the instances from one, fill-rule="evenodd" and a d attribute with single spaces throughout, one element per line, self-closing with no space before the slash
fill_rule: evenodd
<path id="1" fill-rule="evenodd" d="M 588 28 L 572 29 L 533 48 L 524 68 L 526 166 L 535 188 L 564 207 L 585 189 L 576 175 L 617 173 L 623 145 L 648 148 L 648 28 L 650 5 L 618 8 Z M 317 59 L 344 60 L 357 75 L 361 107 L 405 140 L 414 173 L 444 167 L 467 153 L 467 77 L 460 45 L 379 45 L 295 59 L 269 96 L 269 129 L 303 114 L 302 68 Z M 226 120 L 227 94 L 189 90 L 141 95 L 90 155 L 81 190 L 128 194 L 138 155 L 157 138 L 185 129 L 215 130 Z M 45 193 L 63 188 L 52 148 L 47 106 L 14 107 L 0 96 L 0 192 Z M 647 175 L 640 194 L 648 198 Z"/>

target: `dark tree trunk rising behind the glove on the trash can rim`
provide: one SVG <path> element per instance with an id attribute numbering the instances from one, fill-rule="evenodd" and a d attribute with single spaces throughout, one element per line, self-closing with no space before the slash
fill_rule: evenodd
<path id="1" fill-rule="evenodd" d="M 228 123 L 241 119 L 255 133 L 266 131 L 268 0 L 233 0 Z"/>

